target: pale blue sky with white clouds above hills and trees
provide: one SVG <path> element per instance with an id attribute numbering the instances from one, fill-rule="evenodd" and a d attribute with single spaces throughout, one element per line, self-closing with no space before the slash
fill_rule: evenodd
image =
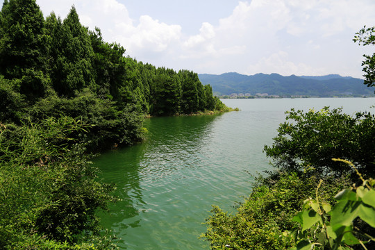
<path id="1" fill-rule="evenodd" d="M 0 0 L 2 1 L 2 0 Z M 126 56 L 199 74 L 363 78 L 353 36 L 375 26 L 374 0 L 37 0 L 62 19 L 74 5 L 81 23 L 101 28 Z"/>

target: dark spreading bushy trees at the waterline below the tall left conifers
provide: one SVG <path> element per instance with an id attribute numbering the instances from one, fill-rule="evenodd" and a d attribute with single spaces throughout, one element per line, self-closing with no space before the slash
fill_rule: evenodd
<path id="1" fill-rule="evenodd" d="M 88 142 L 92 150 L 108 149 L 113 144 L 132 144 L 144 138 L 143 117 L 137 107 L 128 105 L 118 110 L 113 101 L 99 99 L 87 88 L 70 99 L 51 93 L 29 108 L 28 113 L 37 121 L 69 115 L 90 124 L 90 133 L 76 133 L 74 137 Z"/>

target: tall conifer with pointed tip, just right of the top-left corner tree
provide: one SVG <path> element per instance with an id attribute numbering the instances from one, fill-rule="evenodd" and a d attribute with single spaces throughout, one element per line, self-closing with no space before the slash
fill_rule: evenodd
<path id="1" fill-rule="evenodd" d="M 74 96 L 74 90 L 94 85 L 92 70 L 92 51 L 88 29 L 79 22 L 74 6 L 63 24 L 51 17 L 51 51 L 53 53 L 53 69 L 51 78 L 53 88 L 60 94 Z M 60 25 L 60 26 L 59 26 Z"/>

